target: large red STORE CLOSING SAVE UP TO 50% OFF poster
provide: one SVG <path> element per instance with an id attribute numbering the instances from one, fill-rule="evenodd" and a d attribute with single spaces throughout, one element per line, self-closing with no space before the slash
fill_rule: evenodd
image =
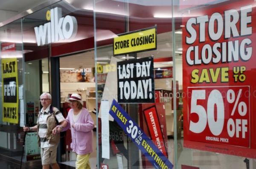
<path id="1" fill-rule="evenodd" d="M 256 158 L 255 6 L 226 1 L 183 17 L 185 147 Z"/>

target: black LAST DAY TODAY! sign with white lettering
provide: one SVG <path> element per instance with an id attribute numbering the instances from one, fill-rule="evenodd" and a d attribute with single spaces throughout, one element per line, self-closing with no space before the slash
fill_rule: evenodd
<path id="1" fill-rule="evenodd" d="M 118 103 L 154 103 L 153 57 L 117 62 Z"/>

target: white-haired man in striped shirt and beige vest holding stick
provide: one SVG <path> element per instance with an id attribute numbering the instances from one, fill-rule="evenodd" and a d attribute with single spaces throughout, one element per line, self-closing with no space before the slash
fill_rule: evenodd
<path id="1" fill-rule="evenodd" d="M 24 132 L 37 131 L 38 132 L 38 145 L 41 147 L 41 160 L 43 169 L 59 169 L 56 162 L 57 147 L 60 140 L 60 135 L 53 135 L 52 129 L 58 123 L 64 122 L 65 118 L 61 112 L 51 105 L 52 96 L 49 93 L 43 93 L 40 96 L 43 108 L 38 114 L 37 125 L 33 127 L 23 127 Z"/>

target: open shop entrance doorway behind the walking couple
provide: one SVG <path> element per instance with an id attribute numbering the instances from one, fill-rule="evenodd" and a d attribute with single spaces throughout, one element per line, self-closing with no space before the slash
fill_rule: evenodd
<path id="1" fill-rule="evenodd" d="M 96 83 L 94 51 L 76 53 L 60 57 L 60 105 L 64 117 L 70 109 L 68 98 L 72 93 L 81 95 L 84 107 L 89 110 L 94 120 L 93 129 L 93 153 L 90 154 L 90 166 L 94 168 L 97 163 L 96 153 Z M 70 148 L 70 129 L 61 133 L 61 163 L 76 166 L 76 153 Z"/>

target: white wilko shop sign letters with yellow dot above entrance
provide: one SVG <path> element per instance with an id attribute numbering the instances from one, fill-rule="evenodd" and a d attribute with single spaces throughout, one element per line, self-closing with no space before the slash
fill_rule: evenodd
<path id="1" fill-rule="evenodd" d="M 47 11 L 46 18 L 47 20 L 50 20 L 50 22 L 34 28 L 38 46 L 69 39 L 76 35 L 76 18 L 70 15 L 65 17 L 61 16 L 61 8 L 56 7 Z"/>

